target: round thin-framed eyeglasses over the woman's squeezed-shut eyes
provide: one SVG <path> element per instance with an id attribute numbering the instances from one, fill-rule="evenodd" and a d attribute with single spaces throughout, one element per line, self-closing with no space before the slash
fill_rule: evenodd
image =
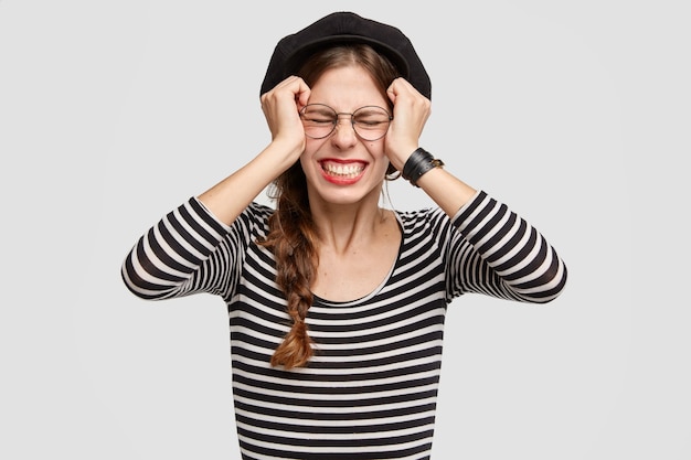
<path id="1" fill-rule="evenodd" d="M 340 115 L 350 115 L 350 122 L 358 137 L 363 140 L 379 140 L 386 135 L 393 116 L 379 106 L 360 107 L 352 114 L 336 111 L 325 104 L 308 104 L 300 110 L 305 135 L 312 139 L 323 139 L 331 135 Z"/>

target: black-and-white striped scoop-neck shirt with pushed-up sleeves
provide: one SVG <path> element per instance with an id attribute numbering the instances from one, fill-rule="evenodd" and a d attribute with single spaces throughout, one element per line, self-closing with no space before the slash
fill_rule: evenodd
<path id="1" fill-rule="evenodd" d="M 391 272 L 348 302 L 315 298 L 316 353 L 285 371 L 270 356 L 290 328 L 275 259 L 255 244 L 273 210 L 253 203 L 227 226 L 194 197 L 146 233 L 123 265 L 145 299 L 221 296 L 231 330 L 233 398 L 243 459 L 428 459 L 447 304 L 468 292 L 545 303 L 566 268 L 543 236 L 485 192 L 454 218 L 398 212 Z"/>

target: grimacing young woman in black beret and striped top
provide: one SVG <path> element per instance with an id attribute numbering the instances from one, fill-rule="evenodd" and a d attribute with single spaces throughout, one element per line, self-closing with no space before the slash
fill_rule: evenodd
<path id="1" fill-rule="evenodd" d="M 125 284 L 227 303 L 244 459 L 429 458 L 448 303 L 545 303 L 566 268 L 421 148 L 430 84 L 400 30 L 339 12 L 286 36 L 261 100 L 272 142 L 147 232 Z M 398 174 L 438 206 L 380 207 Z"/>

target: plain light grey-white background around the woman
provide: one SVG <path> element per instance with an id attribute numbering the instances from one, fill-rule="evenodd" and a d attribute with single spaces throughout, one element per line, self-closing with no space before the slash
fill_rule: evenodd
<path id="1" fill-rule="evenodd" d="M 266 146 L 275 43 L 342 9 L 411 38 L 422 143 L 570 268 L 550 306 L 450 306 L 434 458 L 691 459 L 682 4 L 1 1 L 0 458 L 240 459 L 224 303 L 119 268 Z"/>

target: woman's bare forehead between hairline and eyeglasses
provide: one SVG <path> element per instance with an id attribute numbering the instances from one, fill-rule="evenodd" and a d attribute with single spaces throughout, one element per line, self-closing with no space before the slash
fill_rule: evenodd
<path id="1" fill-rule="evenodd" d="M 326 71 L 310 89 L 310 103 L 327 104 L 337 110 L 354 110 L 368 105 L 386 107 L 386 99 L 372 75 L 355 65 Z"/>

